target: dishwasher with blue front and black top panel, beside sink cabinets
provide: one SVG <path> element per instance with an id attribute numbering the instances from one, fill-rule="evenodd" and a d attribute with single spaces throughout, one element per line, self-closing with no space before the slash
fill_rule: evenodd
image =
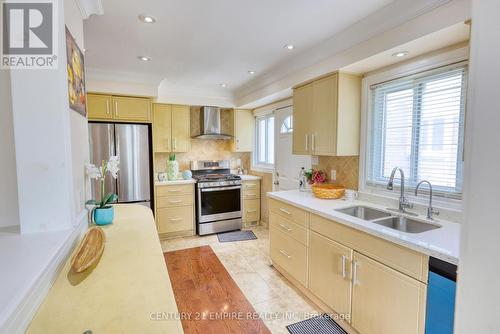
<path id="1" fill-rule="evenodd" d="M 457 266 L 429 258 L 425 334 L 453 334 Z"/>

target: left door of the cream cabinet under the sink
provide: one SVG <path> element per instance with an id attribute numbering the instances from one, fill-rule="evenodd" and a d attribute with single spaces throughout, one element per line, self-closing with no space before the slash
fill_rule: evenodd
<path id="1" fill-rule="evenodd" d="M 309 240 L 309 289 L 335 312 L 349 315 L 352 250 L 316 232 Z"/>

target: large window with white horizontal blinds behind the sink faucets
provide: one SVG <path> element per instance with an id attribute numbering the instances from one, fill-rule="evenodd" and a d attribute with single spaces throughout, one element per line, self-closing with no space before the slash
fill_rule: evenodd
<path id="1" fill-rule="evenodd" d="M 467 67 L 448 66 L 370 87 L 367 186 L 384 187 L 395 166 L 414 188 L 461 198 Z"/>

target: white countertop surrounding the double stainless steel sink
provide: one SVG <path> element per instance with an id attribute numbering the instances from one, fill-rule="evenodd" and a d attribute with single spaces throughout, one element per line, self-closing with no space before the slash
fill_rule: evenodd
<path id="1" fill-rule="evenodd" d="M 441 228 L 422 233 L 406 233 L 335 211 L 354 205 L 386 209 L 370 202 L 323 200 L 314 197 L 310 192 L 298 190 L 269 192 L 267 196 L 443 261 L 458 264 L 460 225 L 457 223 L 437 219 L 434 223 L 441 225 Z M 426 220 L 423 216 L 415 218 Z"/>

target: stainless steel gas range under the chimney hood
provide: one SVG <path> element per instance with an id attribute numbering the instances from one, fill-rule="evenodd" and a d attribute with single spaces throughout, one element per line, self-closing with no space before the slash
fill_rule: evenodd
<path id="1" fill-rule="evenodd" d="M 196 180 L 196 231 L 199 235 L 242 227 L 241 178 L 231 174 L 228 160 L 192 161 Z"/>

